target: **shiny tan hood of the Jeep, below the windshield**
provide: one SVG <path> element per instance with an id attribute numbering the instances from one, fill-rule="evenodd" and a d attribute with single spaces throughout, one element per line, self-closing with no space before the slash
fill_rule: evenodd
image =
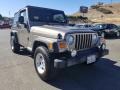
<path id="1" fill-rule="evenodd" d="M 31 32 L 34 34 L 40 34 L 48 38 L 57 39 L 58 34 L 64 37 L 66 34 L 72 33 L 94 33 L 90 29 L 80 29 L 78 27 L 72 27 L 67 25 L 43 25 L 31 27 Z"/>

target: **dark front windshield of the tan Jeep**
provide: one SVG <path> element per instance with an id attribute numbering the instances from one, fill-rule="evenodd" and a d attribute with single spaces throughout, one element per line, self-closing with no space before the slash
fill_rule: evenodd
<path id="1" fill-rule="evenodd" d="M 63 11 L 45 8 L 29 8 L 29 18 L 31 22 L 46 22 L 46 23 L 67 22 Z"/>

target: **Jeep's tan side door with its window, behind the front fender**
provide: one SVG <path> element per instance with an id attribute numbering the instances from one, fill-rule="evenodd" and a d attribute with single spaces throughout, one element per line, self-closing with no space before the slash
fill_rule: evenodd
<path id="1" fill-rule="evenodd" d="M 27 14 L 26 14 L 26 10 L 23 10 L 20 12 L 19 17 L 23 17 L 24 18 L 24 22 L 23 24 L 19 24 L 18 27 L 18 36 L 19 36 L 19 43 L 24 46 L 25 48 L 27 48 L 28 46 L 28 42 L 29 42 L 29 30 L 28 30 L 28 19 L 27 19 Z"/>

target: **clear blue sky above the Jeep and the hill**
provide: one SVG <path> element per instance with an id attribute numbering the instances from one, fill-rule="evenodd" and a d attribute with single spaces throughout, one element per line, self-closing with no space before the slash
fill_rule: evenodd
<path id="1" fill-rule="evenodd" d="M 63 10 L 67 15 L 77 12 L 80 6 L 91 6 L 97 2 L 120 3 L 120 0 L 1 0 L 0 14 L 2 16 L 13 17 L 19 9 L 27 6 L 39 6 L 52 9 Z"/>

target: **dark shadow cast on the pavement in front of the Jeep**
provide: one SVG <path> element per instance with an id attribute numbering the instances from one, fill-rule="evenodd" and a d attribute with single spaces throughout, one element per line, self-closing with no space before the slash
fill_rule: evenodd
<path id="1" fill-rule="evenodd" d="M 95 65 L 77 65 L 62 70 L 50 85 L 62 90 L 120 90 L 120 67 L 103 58 Z"/>

